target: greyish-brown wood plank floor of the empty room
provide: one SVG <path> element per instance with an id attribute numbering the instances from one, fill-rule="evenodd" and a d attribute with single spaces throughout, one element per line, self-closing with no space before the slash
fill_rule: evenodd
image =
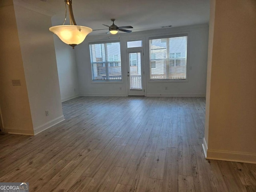
<path id="1" fill-rule="evenodd" d="M 256 164 L 205 160 L 204 98 L 79 97 L 36 136 L 0 134 L 0 182 L 30 192 L 256 192 Z"/>

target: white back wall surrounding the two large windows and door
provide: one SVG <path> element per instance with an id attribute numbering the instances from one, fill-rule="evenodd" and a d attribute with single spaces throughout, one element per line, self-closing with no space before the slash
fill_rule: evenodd
<path id="1" fill-rule="evenodd" d="M 149 81 L 149 38 L 162 37 L 173 34 L 188 33 L 188 70 L 187 82 L 150 82 Z M 206 71 L 207 71 L 207 50 L 208 50 L 208 24 L 186 26 L 179 28 L 150 30 L 144 32 L 132 32 L 131 34 L 120 34 L 121 62 L 122 62 L 122 82 L 112 83 L 92 82 L 90 42 L 108 42 L 118 40 L 118 35 L 107 34 L 100 36 L 88 36 L 86 40 L 76 46 L 76 62 L 78 66 L 78 77 L 80 94 L 86 96 L 127 96 L 127 65 L 126 65 L 126 41 L 143 40 L 144 65 L 146 72 L 146 96 L 205 96 L 206 95 Z M 165 90 L 167 87 L 167 90 Z"/>

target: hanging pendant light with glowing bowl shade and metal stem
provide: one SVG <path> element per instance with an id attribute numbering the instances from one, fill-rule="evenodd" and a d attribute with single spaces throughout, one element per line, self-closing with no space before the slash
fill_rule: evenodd
<path id="1" fill-rule="evenodd" d="M 67 8 L 66 8 L 66 15 L 63 25 L 52 26 L 49 28 L 51 32 L 56 34 L 60 40 L 64 43 L 74 47 L 84 41 L 86 36 L 92 32 L 92 29 L 85 26 L 76 25 L 76 21 L 74 18 L 73 10 L 72 10 L 72 0 L 65 0 L 65 6 L 68 5 L 69 10 L 69 19 L 70 25 L 64 25 L 66 21 L 67 15 Z"/>

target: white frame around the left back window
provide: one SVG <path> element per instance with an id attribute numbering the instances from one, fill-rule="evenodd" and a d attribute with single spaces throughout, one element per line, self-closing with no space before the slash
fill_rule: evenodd
<path id="1" fill-rule="evenodd" d="M 121 78 L 120 80 L 94 80 L 93 79 L 93 75 L 92 75 L 92 62 L 91 62 L 91 54 L 90 54 L 90 45 L 92 44 L 112 44 L 112 43 L 116 43 L 118 42 L 120 44 L 120 57 L 118 57 L 118 59 L 120 58 L 120 63 L 121 63 Z M 91 83 L 123 83 L 124 82 L 124 75 L 123 75 L 123 65 L 122 65 L 122 43 L 120 42 L 120 40 L 109 40 L 109 41 L 91 41 L 91 42 L 88 42 L 88 52 L 89 52 L 89 57 L 90 57 L 90 80 L 91 80 Z M 114 54 L 115 55 L 115 54 Z M 114 55 L 113 58 L 114 58 Z M 118 54 L 117 54 L 118 55 Z M 108 59 L 109 59 L 109 56 L 108 56 Z M 118 62 L 119 62 L 118 61 Z M 106 63 L 110 63 L 111 61 L 108 61 Z M 115 66 L 115 61 L 114 62 L 114 66 Z"/>

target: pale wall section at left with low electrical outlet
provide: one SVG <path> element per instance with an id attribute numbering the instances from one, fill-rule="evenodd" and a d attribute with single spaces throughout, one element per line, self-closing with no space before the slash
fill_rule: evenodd
<path id="1" fill-rule="evenodd" d="M 64 120 L 51 16 L 14 5 L 34 132 Z M 46 116 L 45 111 L 49 111 Z"/>

